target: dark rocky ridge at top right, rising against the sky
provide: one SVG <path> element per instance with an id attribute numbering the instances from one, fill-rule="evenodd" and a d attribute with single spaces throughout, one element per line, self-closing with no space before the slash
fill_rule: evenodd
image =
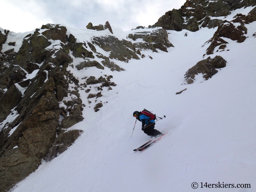
<path id="1" fill-rule="evenodd" d="M 255 0 L 187 0 L 180 9 L 166 12 L 154 25 L 148 27 L 162 27 L 175 31 L 187 29 L 195 32 L 199 30 L 200 25 L 200 27 L 214 28 L 221 24 L 222 20 L 211 20 L 210 17 L 227 16 L 232 10 L 255 5 Z M 253 17 L 255 18 L 255 14 L 252 15 Z"/>

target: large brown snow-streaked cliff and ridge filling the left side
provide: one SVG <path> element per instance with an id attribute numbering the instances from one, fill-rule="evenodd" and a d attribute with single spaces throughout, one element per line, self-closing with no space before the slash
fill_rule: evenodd
<path id="1" fill-rule="evenodd" d="M 89 23 L 87 28 L 109 30 L 113 34 L 108 21 L 105 26 Z M 8 32 L 0 33 L 1 50 Z M 34 172 L 42 160 L 51 161 L 72 145 L 82 131 L 68 128 L 84 119 L 85 103 L 90 108 L 92 98 L 96 99 L 93 109 L 99 111 L 103 104 L 96 101 L 103 96 L 104 87 L 109 91 L 111 86 L 116 86 L 111 82 L 111 75 L 96 78 L 92 74 L 78 79 L 71 68 L 104 70 L 107 67 L 111 71 L 123 71 L 114 60 L 140 60 L 142 49 L 167 52 L 166 47 L 173 46 L 164 29 L 139 36 L 146 36 L 145 43 L 132 43 L 110 35 L 95 36 L 81 43 L 67 34 L 66 27 L 47 24 L 24 36 L 17 53 L 14 49 L 0 52 L 1 191 L 11 189 Z M 15 46 L 15 42 L 8 45 Z M 109 56 L 97 49 L 103 49 Z M 87 101 L 80 98 L 79 91 L 87 94 Z"/>

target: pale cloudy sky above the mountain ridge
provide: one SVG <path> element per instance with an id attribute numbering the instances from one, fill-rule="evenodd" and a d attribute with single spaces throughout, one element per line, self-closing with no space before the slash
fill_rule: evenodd
<path id="1" fill-rule="evenodd" d="M 26 32 L 47 23 L 75 28 L 105 24 L 125 30 L 156 23 L 186 0 L 0 0 L 0 27 Z"/>

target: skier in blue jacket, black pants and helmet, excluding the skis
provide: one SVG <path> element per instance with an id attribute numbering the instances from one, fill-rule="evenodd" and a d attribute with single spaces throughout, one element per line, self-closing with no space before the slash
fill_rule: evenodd
<path id="1" fill-rule="evenodd" d="M 145 114 L 144 111 L 143 113 Z M 147 135 L 149 135 L 150 138 L 162 135 L 161 132 L 154 129 L 156 124 L 155 120 L 144 114 L 141 114 L 141 112 L 139 111 L 133 112 L 133 116 L 136 117 L 136 119 L 138 119 L 142 123 L 141 130 L 144 131 L 144 133 L 146 133 Z"/>

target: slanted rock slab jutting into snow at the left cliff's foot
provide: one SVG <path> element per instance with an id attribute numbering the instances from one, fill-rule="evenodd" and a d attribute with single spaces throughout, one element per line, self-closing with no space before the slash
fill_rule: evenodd
<path id="1" fill-rule="evenodd" d="M 50 149 L 45 161 L 49 162 L 53 158 L 57 157 L 59 154 L 66 151 L 68 147 L 75 142 L 75 140 L 80 136 L 81 133 L 81 130 L 71 130 L 61 133 L 53 143 L 53 146 Z"/>

